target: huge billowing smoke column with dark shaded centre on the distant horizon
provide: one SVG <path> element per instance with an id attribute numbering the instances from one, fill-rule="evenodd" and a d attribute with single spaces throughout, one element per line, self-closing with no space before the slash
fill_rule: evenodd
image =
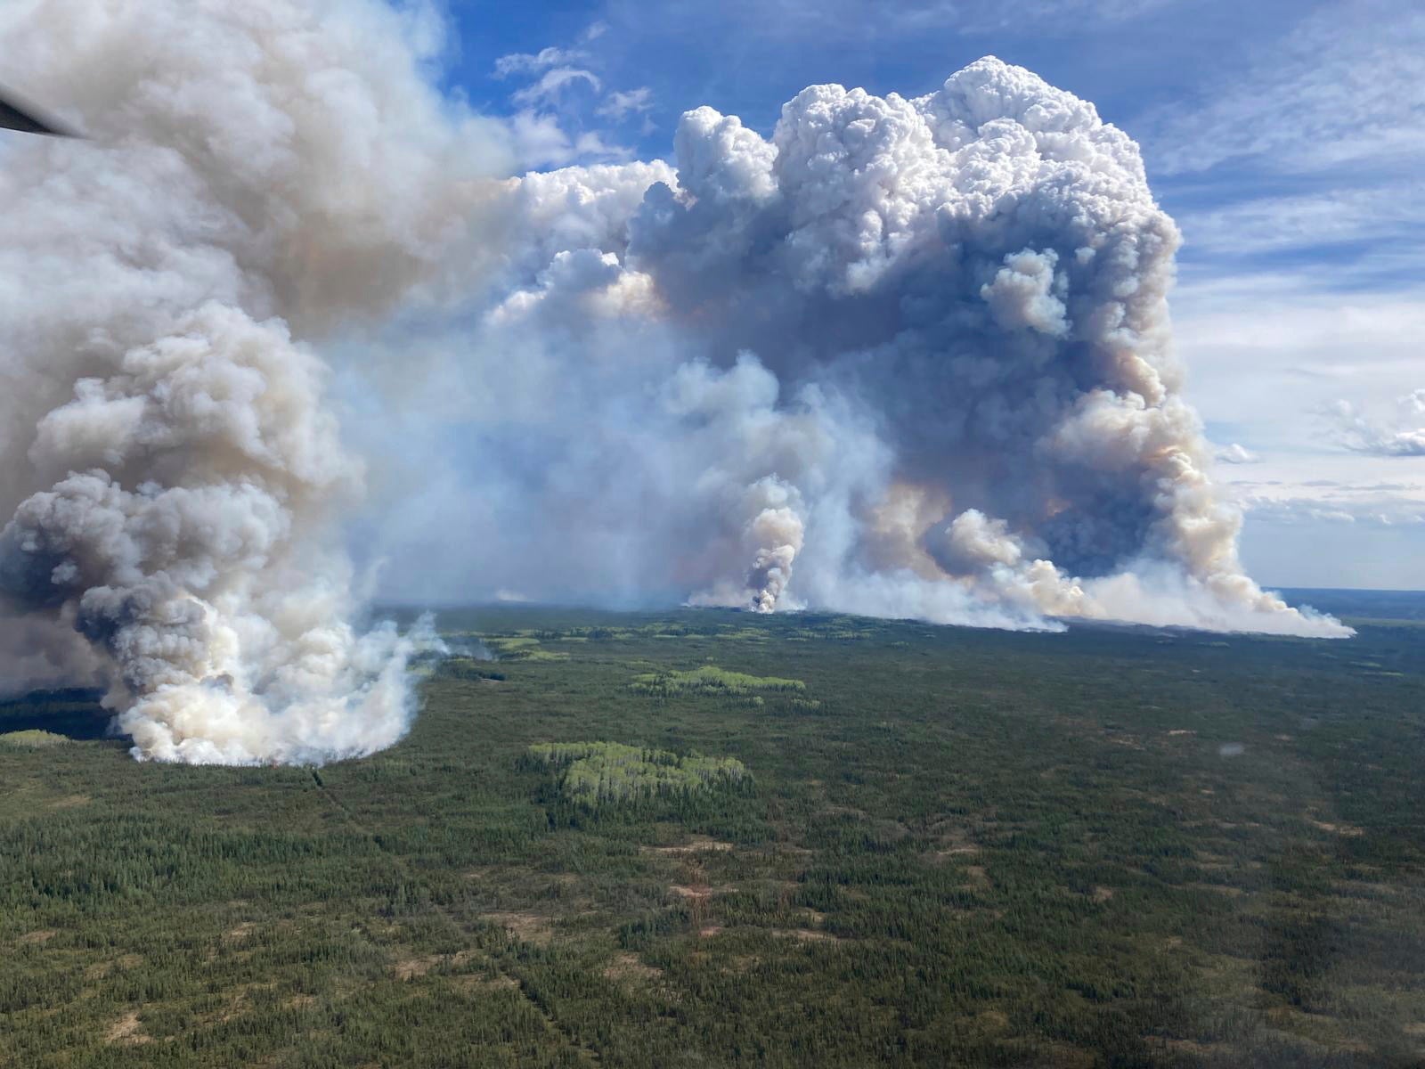
<path id="1" fill-rule="evenodd" d="M 770 141 L 697 108 L 675 150 L 504 191 L 504 285 L 450 326 L 446 440 L 484 463 L 439 489 L 502 584 L 1347 633 L 1243 573 L 1171 352 L 1178 234 L 1090 104 L 986 58 L 916 100 L 808 88 Z"/>

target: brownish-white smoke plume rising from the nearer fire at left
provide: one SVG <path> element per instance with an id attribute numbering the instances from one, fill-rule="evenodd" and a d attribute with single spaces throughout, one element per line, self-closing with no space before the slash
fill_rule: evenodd
<path id="1" fill-rule="evenodd" d="M 7 78 L 93 138 L 0 150 L 6 683 L 101 681 L 138 757 L 406 730 L 415 640 L 353 627 L 362 465 L 295 338 L 472 259 L 500 148 L 433 44 L 363 0 L 0 9 Z"/>

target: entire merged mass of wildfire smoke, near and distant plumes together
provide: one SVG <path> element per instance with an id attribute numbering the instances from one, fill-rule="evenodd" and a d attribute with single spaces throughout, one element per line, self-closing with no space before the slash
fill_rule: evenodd
<path id="1" fill-rule="evenodd" d="M 101 681 L 141 757 L 400 737 L 353 520 L 395 596 L 1345 633 L 1243 574 L 1177 231 L 1029 71 L 499 182 L 425 7 L 17 0 L 0 46 L 93 137 L 0 150 L 7 681 Z"/>

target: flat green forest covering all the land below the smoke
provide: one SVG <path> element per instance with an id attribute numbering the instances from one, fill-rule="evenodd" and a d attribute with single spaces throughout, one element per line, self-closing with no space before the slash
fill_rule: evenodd
<path id="1" fill-rule="evenodd" d="M 450 610 L 321 768 L 11 698 L 0 1066 L 1419 1066 L 1425 596 L 1324 607 Z"/>

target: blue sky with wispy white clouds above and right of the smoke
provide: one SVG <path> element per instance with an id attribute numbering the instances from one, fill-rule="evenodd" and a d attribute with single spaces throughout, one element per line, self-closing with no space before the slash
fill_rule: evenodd
<path id="1" fill-rule="evenodd" d="M 919 95 L 985 54 L 1094 101 L 1140 141 L 1184 231 L 1178 346 L 1223 448 L 1218 479 L 1247 509 L 1248 569 L 1278 586 L 1425 587 L 1425 6 L 608 0 L 446 13 L 447 91 L 523 123 L 537 168 L 668 157 L 678 115 L 700 104 L 768 133 L 814 83 Z M 559 51 L 519 58 L 546 48 Z"/>

